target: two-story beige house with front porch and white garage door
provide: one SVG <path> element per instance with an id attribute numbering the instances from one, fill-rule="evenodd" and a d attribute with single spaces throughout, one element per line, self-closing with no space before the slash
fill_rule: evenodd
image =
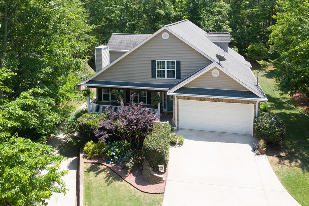
<path id="1" fill-rule="evenodd" d="M 88 112 L 103 112 L 104 105 L 117 111 L 115 93 L 122 91 L 124 103 L 134 94 L 133 101 L 179 129 L 252 135 L 267 98 L 250 63 L 229 48 L 230 39 L 188 19 L 154 34 L 112 34 L 108 45 L 95 48 L 96 74 L 82 83 L 97 88 Z M 155 95 L 162 98 L 158 105 Z"/>

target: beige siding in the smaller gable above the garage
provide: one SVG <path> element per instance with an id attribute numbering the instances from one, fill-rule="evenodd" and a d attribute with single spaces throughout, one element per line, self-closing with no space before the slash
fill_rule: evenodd
<path id="1" fill-rule="evenodd" d="M 208 89 L 226 89 L 226 90 L 246 90 L 249 91 L 246 87 L 242 86 L 236 82 L 233 78 L 219 70 L 220 74 L 218 77 L 214 77 L 209 70 L 205 74 L 202 74 L 198 78 L 192 80 L 183 87 L 191 88 L 208 88 Z"/>

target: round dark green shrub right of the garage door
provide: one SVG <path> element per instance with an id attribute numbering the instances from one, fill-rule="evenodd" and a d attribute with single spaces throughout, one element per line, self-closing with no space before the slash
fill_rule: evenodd
<path id="1" fill-rule="evenodd" d="M 265 113 L 254 120 L 254 134 L 266 142 L 278 143 L 286 137 L 286 126 L 278 116 Z"/>

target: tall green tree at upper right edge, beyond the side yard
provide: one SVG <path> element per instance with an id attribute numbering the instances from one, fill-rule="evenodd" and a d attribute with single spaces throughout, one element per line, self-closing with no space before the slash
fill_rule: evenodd
<path id="1" fill-rule="evenodd" d="M 269 43 L 280 54 L 272 61 L 278 87 L 283 94 L 301 90 L 309 97 L 309 1 L 280 0 L 277 9 Z"/>

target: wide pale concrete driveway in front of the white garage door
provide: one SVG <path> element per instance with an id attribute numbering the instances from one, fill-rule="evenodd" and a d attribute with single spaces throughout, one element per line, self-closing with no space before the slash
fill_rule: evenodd
<path id="1" fill-rule="evenodd" d="M 163 205 L 299 205 L 281 185 L 256 138 L 180 130 L 171 147 Z"/>

